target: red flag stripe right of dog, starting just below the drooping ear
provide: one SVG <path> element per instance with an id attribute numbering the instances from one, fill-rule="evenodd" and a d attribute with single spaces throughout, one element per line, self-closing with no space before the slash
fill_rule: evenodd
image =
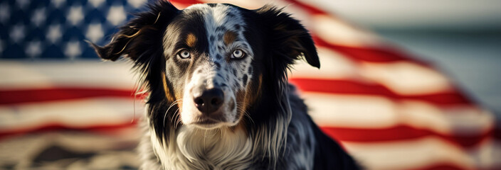
<path id="1" fill-rule="evenodd" d="M 394 93 L 386 86 L 380 84 L 364 84 L 357 81 L 308 78 L 291 78 L 289 81 L 297 85 L 302 91 L 386 96 L 393 99 L 421 100 L 439 106 L 473 105 L 470 99 L 457 91 L 443 91 L 424 95 L 401 95 Z"/>

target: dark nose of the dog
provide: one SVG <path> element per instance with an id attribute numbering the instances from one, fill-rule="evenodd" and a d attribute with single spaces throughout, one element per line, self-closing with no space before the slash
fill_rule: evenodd
<path id="1" fill-rule="evenodd" d="M 209 114 L 217 111 L 224 101 L 224 93 L 221 89 L 209 89 L 194 96 L 195 106 L 202 113 Z"/>

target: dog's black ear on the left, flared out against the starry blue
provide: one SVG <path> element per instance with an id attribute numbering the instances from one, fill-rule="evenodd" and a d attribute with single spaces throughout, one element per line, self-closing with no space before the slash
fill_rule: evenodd
<path id="1" fill-rule="evenodd" d="M 149 11 L 135 14 L 134 19 L 122 26 L 109 44 L 101 47 L 88 42 L 97 55 L 104 60 L 115 61 L 120 56 L 137 60 L 149 55 L 152 49 L 161 50 L 164 28 L 179 10 L 168 1 L 157 1 L 148 7 Z"/>

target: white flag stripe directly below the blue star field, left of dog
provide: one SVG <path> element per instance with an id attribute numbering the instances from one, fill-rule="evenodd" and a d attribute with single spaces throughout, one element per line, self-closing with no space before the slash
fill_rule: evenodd
<path id="1" fill-rule="evenodd" d="M 131 64 L 124 62 L 0 62 L 0 89 L 54 86 L 133 89 Z"/>

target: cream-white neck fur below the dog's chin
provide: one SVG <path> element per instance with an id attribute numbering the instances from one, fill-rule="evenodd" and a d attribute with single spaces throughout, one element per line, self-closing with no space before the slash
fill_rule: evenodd
<path id="1" fill-rule="evenodd" d="M 151 139 L 164 169 L 246 169 L 252 163 L 252 141 L 241 128 L 182 126 L 172 134 L 165 145 L 155 135 Z"/>

